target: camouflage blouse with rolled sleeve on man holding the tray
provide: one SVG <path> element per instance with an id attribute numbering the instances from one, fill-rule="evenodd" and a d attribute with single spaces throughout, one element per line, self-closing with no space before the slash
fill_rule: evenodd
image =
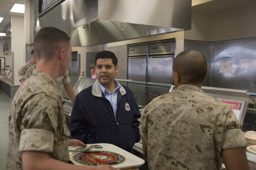
<path id="1" fill-rule="evenodd" d="M 23 151 L 48 152 L 69 161 L 70 132 L 63 112 L 64 98 L 55 81 L 34 70 L 16 92 L 9 116 L 7 169 L 22 169 Z"/>

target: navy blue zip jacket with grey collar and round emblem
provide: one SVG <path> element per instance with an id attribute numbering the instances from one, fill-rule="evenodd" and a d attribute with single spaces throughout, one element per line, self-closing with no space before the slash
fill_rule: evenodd
<path id="1" fill-rule="evenodd" d="M 111 103 L 96 80 L 75 97 L 69 130 L 72 139 L 79 139 L 85 144 L 114 144 L 131 152 L 133 145 L 140 141 L 139 118 L 132 91 L 121 86 L 117 94 L 116 121 Z"/>

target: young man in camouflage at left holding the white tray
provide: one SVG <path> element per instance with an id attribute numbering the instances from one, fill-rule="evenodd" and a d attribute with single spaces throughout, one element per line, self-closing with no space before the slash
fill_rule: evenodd
<path id="1" fill-rule="evenodd" d="M 69 144 L 86 146 L 79 140 L 69 140 L 63 112 L 65 100 L 54 81 L 68 69 L 72 52 L 70 37 L 54 27 L 42 28 L 35 36 L 34 52 L 36 70 L 19 87 L 11 105 L 7 170 L 115 170 L 110 165 L 67 163 Z"/>

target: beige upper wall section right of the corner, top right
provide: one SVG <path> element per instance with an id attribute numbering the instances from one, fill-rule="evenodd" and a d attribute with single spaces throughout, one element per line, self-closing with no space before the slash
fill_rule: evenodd
<path id="1" fill-rule="evenodd" d="M 256 37 L 256 2 L 211 16 L 211 41 Z"/>

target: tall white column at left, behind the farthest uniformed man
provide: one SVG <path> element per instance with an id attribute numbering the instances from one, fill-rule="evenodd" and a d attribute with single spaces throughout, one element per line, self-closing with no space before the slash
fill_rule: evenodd
<path id="1" fill-rule="evenodd" d="M 11 52 L 14 53 L 12 61 L 13 85 L 20 85 L 18 70 L 24 64 L 24 17 L 11 16 Z"/>

